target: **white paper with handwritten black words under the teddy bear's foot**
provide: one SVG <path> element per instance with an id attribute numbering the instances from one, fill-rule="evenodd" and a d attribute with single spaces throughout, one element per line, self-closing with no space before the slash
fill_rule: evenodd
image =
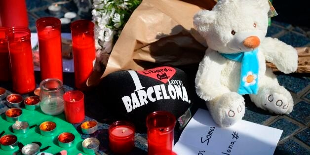
<path id="1" fill-rule="evenodd" d="M 219 127 L 206 110 L 198 109 L 173 148 L 178 155 L 273 155 L 282 130 L 240 120 Z"/>

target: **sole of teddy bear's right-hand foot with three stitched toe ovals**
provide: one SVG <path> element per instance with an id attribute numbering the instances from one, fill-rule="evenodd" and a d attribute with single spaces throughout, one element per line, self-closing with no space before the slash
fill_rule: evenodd
<path id="1" fill-rule="evenodd" d="M 289 114 L 293 110 L 293 103 L 289 103 L 284 95 L 273 93 L 265 99 L 264 108 L 275 114 Z"/>

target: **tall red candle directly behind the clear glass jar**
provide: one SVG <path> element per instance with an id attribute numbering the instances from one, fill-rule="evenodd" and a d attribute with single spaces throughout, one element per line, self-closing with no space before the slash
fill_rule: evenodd
<path id="1" fill-rule="evenodd" d="M 40 18 L 36 22 L 39 38 L 41 79 L 63 80 L 61 54 L 61 25 L 54 17 Z"/>

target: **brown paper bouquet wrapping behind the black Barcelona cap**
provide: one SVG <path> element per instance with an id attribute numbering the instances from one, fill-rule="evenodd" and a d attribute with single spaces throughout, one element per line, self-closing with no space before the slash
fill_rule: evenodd
<path id="1" fill-rule="evenodd" d="M 87 85 L 119 70 L 199 63 L 205 40 L 194 30 L 193 16 L 214 0 L 143 0 L 130 16 L 111 52 L 104 73 L 94 72 Z M 200 7 L 199 7 L 199 6 Z"/>

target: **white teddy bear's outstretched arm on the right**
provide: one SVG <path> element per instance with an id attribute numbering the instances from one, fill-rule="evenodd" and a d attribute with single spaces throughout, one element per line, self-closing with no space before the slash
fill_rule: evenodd
<path id="1" fill-rule="evenodd" d="M 260 49 L 266 61 L 273 63 L 279 71 L 288 74 L 297 70 L 297 50 L 291 45 L 268 37 L 262 41 Z"/>

